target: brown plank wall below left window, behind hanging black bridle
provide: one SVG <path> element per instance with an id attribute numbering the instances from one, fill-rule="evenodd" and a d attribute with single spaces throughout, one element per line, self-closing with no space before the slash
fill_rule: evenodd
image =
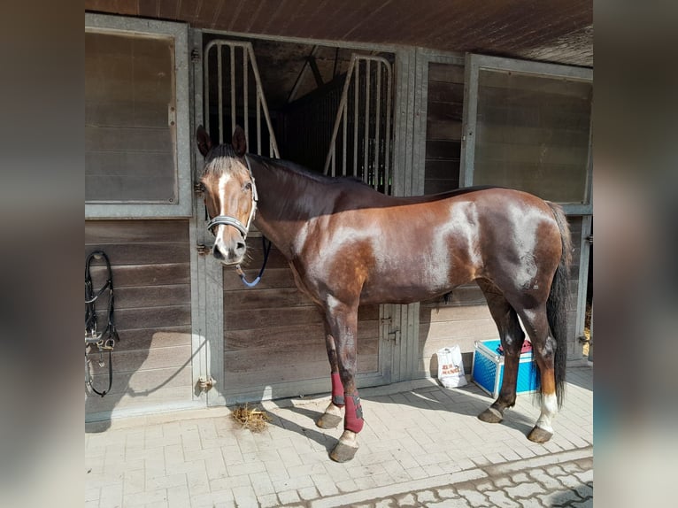
<path id="1" fill-rule="evenodd" d="M 190 401 L 189 222 L 86 220 L 85 256 L 93 250 L 104 250 L 112 263 L 120 340 L 112 355 L 111 393 L 100 397 L 88 390 L 86 416 Z M 104 266 L 93 266 L 92 276 L 95 289 L 101 288 Z M 107 358 L 104 368 L 98 353 L 88 359 L 96 389 L 106 389 Z"/>

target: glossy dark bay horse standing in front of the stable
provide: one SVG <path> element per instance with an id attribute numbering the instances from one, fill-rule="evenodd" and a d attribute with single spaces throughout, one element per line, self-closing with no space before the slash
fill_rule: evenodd
<path id="1" fill-rule="evenodd" d="M 358 304 L 409 304 L 470 281 L 487 299 L 505 354 L 497 400 L 478 418 L 498 423 L 515 404 L 525 339 L 520 317 L 541 381 L 541 412 L 528 439 L 551 439 L 565 389 L 572 250 L 559 205 L 504 188 L 386 196 L 356 179 L 248 154 L 241 127 L 230 145 L 213 145 L 200 126 L 196 142 L 213 257 L 239 267 L 255 224 L 323 315 L 332 395 L 316 424 L 333 428 L 343 419 L 330 458 L 355 456 L 365 421 L 355 381 Z"/>

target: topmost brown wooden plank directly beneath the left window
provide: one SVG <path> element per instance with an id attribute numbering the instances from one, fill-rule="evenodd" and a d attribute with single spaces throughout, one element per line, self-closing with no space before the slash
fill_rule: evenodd
<path id="1" fill-rule="evenodd" d="M 188 220 L 85 220 L 86 245 L 188 241 Z"/>

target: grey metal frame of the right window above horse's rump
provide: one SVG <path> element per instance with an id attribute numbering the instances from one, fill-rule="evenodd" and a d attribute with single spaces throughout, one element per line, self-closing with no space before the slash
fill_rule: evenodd
<path id="1" fill-rule="evenodd" d="M 478 119 L 478 85 L 482 70 L 511 71 L 560 77 L 593 84 L 593 70 L 570 65 L 546 64 L 513 58 L 489 57 L 486 55 L 466 54 L 466 90 L 464 94 L 464 113 L 461 136 L 461 167 L 459 169 L 459 187 L 474 185 L 475 128 Z M 591 128 L 589 127 L 589 155 L 586 167 L 586 188 L 582 203 L 559 203 L 568 215 L 589 215 L 593 212 L 592 192 L 592 150 Z"/>

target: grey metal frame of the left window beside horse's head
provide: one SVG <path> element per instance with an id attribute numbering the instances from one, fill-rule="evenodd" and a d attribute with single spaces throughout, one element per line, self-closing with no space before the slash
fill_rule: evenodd
<path id="1" fill-rule="evenodd" d="M 85 13 L 85 31 L 108 34 L 172 37 L 174 42 L 174 99 L 176 145 L 174 171 L 177 198 L 174 203 L 85 203 L 85 219 L 185 218 L 193 214 L 189 26 L 185 23 L 135 19 Z"/>

